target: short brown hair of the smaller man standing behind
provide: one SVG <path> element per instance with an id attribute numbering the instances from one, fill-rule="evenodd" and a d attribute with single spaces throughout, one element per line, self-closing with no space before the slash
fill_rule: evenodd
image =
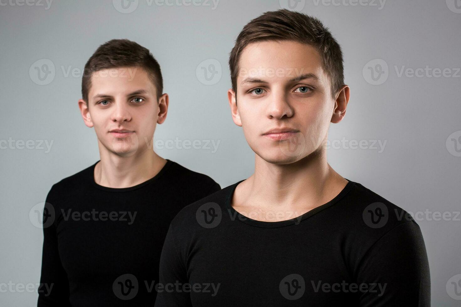
<path id="1" fill-rule="evenodd" d="M 160 98 L 163 93 L 163 79 L 159 63 L 148 49 L 134 41 L 123 39 L 102 44 L 85 64 L 82 77 L 83 100 L 88 104 L 92 73 L 120 67 L 140 67 L 146 70 L 157 90 L 157 99 Z"/>

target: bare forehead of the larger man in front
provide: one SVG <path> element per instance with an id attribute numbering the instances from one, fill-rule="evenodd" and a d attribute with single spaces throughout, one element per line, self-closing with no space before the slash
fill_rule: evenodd
<path id="1" fill-rule="evenodd" d="M 321 81 L 327 81 L 319 52 L 313 46 L 296 41 L 260 41 L 248 44 L 242 51 L 238 67 L 238 84 L 246 77 L 288 80 L 307 73 L 319 76 Z"/>

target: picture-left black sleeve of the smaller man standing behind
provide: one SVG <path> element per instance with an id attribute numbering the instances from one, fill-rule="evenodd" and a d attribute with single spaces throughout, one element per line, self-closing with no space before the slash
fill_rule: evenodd
<path id="1" fill-rule="evenodd" d="M 56 234 L 55 185 L 48 192 L 43 210 L 43 253 L 37 307 L 71 306 L 69 281 L 61 264 Z M 53 219 L 50 225 L 46 220 Z"/>

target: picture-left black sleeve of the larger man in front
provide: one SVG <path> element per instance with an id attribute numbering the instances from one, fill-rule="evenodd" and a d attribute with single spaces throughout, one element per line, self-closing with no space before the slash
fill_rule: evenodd
<path id="1" fill-rule="evenodd" d="M 184 285 L 189 284 L 185 261 L 177 252 L 173 228 L 170 225 L 160 256 L 159 287 L 155 307 L 192 306 L 190 291 Z M 190 290 L 190 286 L 189 286 Z"/>

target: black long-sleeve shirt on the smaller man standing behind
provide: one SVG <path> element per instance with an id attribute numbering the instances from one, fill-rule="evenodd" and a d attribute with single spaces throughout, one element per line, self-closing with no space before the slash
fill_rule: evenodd
<path id="1" fill-rule="evenodd" d="M 171 219 L 220 189 L 168 159 L 139 185 L 104 187 L 94 180 L 96 163 L 47 195 L 38 307 L 153 306 Z"/>

